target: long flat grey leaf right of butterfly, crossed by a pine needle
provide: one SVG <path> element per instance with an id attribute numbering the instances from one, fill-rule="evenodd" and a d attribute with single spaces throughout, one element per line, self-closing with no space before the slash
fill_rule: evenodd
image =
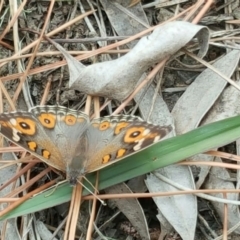
<path id="1" fill-rule="evenodd" d="M 239 50 L 233 50 L 213 66 L 230 77 L 239 61 Z M 210 69 L 203 71 L 187 88 L 172 110 L 176 132 L 195 129 L 225 88 L 227 81 Z"/>

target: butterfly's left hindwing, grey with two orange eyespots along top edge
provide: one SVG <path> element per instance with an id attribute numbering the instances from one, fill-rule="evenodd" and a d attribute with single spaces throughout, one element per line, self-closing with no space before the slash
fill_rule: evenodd
<path id="1" fill-rule="evenodd" d="M 79 141 L 89 125 L 89 117 L 81 111 L 62 106 L 37 106 L 31 109 L 55 148 L 61 153 L 64 171 L 79 149 Z"/>

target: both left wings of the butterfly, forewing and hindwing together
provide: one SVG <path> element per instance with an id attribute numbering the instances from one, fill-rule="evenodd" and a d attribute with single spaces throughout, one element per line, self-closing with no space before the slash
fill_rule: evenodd
<path id="1" fill-rule="evenodd" d="M 88 122 L 82 112 L 59 106 L 0 115 L 2 135 L 62 171 L 71 162 L 75 139 L 80 138 Z"/>

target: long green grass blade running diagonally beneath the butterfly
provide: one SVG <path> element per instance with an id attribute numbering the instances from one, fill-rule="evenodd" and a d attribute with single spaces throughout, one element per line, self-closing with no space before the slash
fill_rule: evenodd
<path id="1" fill-rule="evenodd" d="M 223 146 L 239 137 L 240 116 L 237 116 L 164 140 L 100 170 L 99 189 L 176 163 L 209 149 Z M 94 182 L 95 173 L 88 174 L 87 178 Z M 87 183 L 84 184 L 88 186 Z M 0 220 L 40 211 L 67 202 L 71 198 L 72 188 L 68 183 L 62 184 L 53 194 L 46 197 L 49 191 L 26 201 Z M 88 192 L 84 190 L 84 194 L 88 194 Z"/>

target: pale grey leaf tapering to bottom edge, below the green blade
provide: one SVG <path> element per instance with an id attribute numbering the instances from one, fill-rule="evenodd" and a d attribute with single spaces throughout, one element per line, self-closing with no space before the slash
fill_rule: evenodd
<path id="1" fill-rule="evenodd" d="M 172 169 L 170 171 L 169 166 L 167 175 L 170 179 L 175 177 L 174 175 L 178 175 L 179 179 L 183 176 L 185 172 L 185 168 L 183 168 L 183 172 L 178 168 Z M 166 175 L 165 169 L 159 169 L 157 174 L 150 174 L 146 180 L 147 187 L 151 192 L 170 192 L 170 191 L 178 191 L 175 187 L 162 182 L 159 184 L 159 179 L 157 175 L 159 173 L 163 173 Z M 194 189 L 194 184 L 192 184 L 192 180 L 187 180 L 185 178 L 184 186 L 188 186 L 191 189 Z M 183 181 L 182 181 L 183 182 Z M 194 195 L 176 195 L 176 196 L 166 196 L 166 197 L 154 197 L 154 202 L 159 207 L 161 213 L 167 219 L 167 221 L 173 226 L 173 228 L 178 232 L 178 234 L 182 237 L 182 239 L 192 240 L 194 239 L 195 229 L 196 229 L 196 215 L 197 211 L 197 203 L 196 197 Z M 171 207 L 170 207 L 171 206 Z M 171 210 L 174 208 L 174 211 Z M 192 211 L 194 209 L 194 211 Z"/>

